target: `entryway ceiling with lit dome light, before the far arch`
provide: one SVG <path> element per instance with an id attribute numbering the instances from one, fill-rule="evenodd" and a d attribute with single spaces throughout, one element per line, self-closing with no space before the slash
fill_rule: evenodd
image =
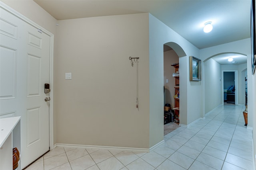
<path id="1" fill-rule="evenodd" d="M 57 20 L 150 13 L 204 49 L 250 38 L 251 0 L 34 0 Z M 212 21 L 213 30 L 203 26 Z"/>

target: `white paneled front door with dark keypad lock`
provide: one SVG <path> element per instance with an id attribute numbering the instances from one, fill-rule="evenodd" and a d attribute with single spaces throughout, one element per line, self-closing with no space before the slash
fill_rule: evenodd
<path id="1" fill-rule="evenodd" d="M 49 70 L 50 36 L 0 8 L 0 118 L 21 116 L 22 168 L 49 150 Z"/>

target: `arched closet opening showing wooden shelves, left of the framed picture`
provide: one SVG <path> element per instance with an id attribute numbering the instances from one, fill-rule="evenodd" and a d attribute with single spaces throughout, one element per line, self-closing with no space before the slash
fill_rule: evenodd
<path id="1" fill-rule="evenodd" d="M 178 128 L 180 122 L 179 57 L 184 50 L 174 42 L 164 44 L 164 135 Z"/>

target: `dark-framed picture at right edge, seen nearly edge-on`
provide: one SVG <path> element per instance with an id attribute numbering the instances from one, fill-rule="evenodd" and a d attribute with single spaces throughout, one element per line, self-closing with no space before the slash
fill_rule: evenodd
<path id="1" fill-rule="evenodd" d="M 256 67 L 256 48 L 255 48 L 255 0 L 251 2 L 251 44 L 252 44 L 252 74 Z"/>

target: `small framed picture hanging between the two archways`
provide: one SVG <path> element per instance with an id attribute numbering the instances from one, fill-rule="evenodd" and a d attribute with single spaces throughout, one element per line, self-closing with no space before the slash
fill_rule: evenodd
<path id="1" fill-rule="evenodd" d="M 196 57 L 189 57 L 189 80 L 201 81 L 201 60 Z"/>

